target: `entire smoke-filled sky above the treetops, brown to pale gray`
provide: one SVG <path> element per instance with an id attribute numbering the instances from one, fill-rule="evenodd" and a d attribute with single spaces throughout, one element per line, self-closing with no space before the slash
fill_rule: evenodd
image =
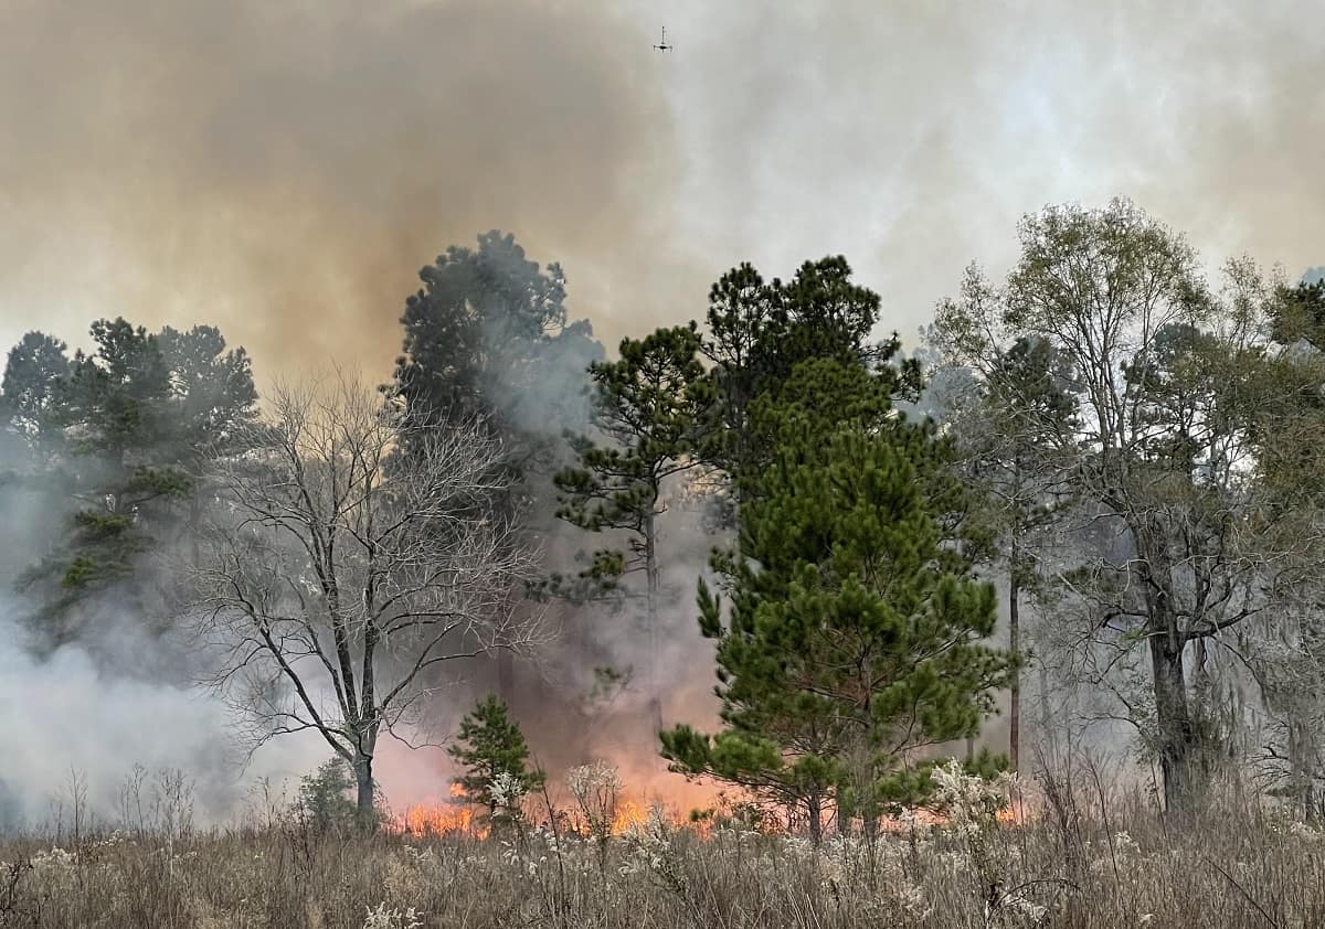
<path id="1" fill-rule="evenodd" d="M 0 343 L 122 314 L 384 375 L 490 228 L 610 343 L 827 253 L 909 337 L 1047 202 L 1325 263 L 1322 151 L 1310 0 L 0 0 Z"/>

